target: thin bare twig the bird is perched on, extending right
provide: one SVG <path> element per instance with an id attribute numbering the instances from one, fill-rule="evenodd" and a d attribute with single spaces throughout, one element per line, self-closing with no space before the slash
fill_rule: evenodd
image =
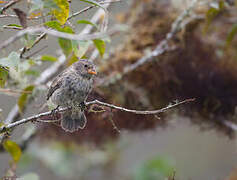
<path id="1" fill-rule="evenodd" d="M 97 105 L 109 107 L 111 109 L 116 109 L 116 110 L 119 110 L 119 111 L 124 111 L 124 112 L 134 113 L 134 114 L 154 115 L 154 114 L 163 113 L 163 112 L 165 112 L 165 111 L 167 111 L 167 110 L 169 110 L 171 108 L 174 108 L 176 106 L 179 106 L 181 104 L 188 103 L 188 102 L 193 102 L 193 101 L 195 101 L 195 99 L 186 99 L 184 101 L 177 102 L 177 103 L 172 104 L 172 105 L 168 105 L 165 108 L 158 109 L 158 110 L 153 110 L 153 111 L 138 111 L 138 110 L 133 110 L 133 109 L 127 109 L 127 108 L 116 106 L 116 105 L 113 105 L 113 104 L 108 104 L 108 103 L 105 103 L 105 102 L 101 102 L 99 100 L 94 100 L 94 101 L 86 102 L 85 104 L 86 104 L 86 106 L 97 104 Z M 66 111 L 68 109 L 69 108 L 62 108 L 62 109 L 60 109 L 57 112 L 63 112 L 63 111 Z M 4 133 L 4 132 L 6 132 L 6 131 L 8 131 L 8 130 L 16 127 L 16 126 L 19 126 L 19 125 L 22 125 L 22 124 L 26 124 L 28 122 L 34 122 L 34 121 L 37 121 L 38 119 L 43 119 L 44 117 L 50 116 L 51 113 L 52 113 L 51 111 L 48 111 L 48 112 L 40 113 L 40 114 L 31 116 L 31 117 L 28 117 L 28 118 L 16 121 L 14 123 L 7 124 L 6 126 L 2 126 L 0 128 L 0 133 Z"/>

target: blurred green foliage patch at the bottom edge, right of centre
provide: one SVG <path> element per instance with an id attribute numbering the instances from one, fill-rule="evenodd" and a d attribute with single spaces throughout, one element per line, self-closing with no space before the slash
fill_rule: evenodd
<path id="1" fill-rule="evenodd" d="M 174 162 L 163 156 L 155 156 L 145 161 L 135 170 L 134 180 L 164 180 L 175 172 Z"/>

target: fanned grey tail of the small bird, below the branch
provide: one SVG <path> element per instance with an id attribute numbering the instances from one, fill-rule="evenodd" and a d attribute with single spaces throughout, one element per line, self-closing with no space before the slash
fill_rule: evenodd
<path id="1" fill-rule="evenodd" d="M 86 116 L 84 111 L 67 111 L 63 114 L 61 126 L 65 131 L 74 132 L 78 129 L 84 129 L 86 126 Z"/>

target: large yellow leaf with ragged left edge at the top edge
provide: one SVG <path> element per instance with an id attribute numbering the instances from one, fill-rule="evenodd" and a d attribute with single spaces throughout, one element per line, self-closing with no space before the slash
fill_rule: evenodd
<path id="1" fill-rule="evenodd" d="M 69 16 L 69 3 L 67 0 L 54 0 L 59 9 L 54 9 L 52 12 L 61 25 L 65 24 Z"/>

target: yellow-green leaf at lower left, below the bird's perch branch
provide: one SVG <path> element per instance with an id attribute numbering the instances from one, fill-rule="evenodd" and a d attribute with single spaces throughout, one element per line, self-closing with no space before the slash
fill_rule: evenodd
<path id="1" fill-rule="evenodd" d="M 4 149 L 12 156 L 12 159 L 17 163 L 21 158 L 21 148 L 13 141 L 6 140 L 3 143 Z"/>

